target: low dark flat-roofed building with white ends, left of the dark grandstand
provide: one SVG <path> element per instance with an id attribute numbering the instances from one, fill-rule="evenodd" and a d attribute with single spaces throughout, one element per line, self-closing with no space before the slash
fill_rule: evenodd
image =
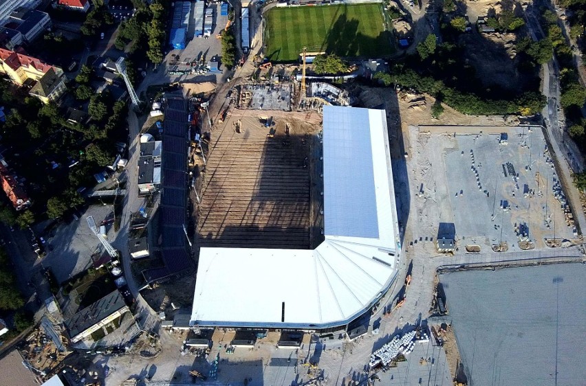
<path id="1" fill-rule="evenodd" d="M 138 193 L 148 194 L 158 190 L 161 184 L 162 141 L 153 141 L 153 136 L 140 137 L 140 158 L 138 159 Z"/>

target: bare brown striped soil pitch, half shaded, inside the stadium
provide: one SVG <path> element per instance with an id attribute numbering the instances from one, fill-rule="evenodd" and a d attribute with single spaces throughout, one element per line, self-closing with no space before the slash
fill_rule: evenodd
<path id="1" fill-rule="evenodd" d="M 232 111 L 215 127 L 200 181 L 202 247 L 307 249 L 320 236 L 321 117 L 261 114 Z"/>

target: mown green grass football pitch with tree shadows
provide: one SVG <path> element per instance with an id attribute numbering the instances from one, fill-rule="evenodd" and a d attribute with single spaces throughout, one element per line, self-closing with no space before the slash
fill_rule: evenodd
<path id="1" fill-rule="evenodd" d="M 303 47 L 346 58 L 394 51 L 379 3 L 273 8 L 265 19 L 265 55 L 275 62 L 298 60 Z"/>

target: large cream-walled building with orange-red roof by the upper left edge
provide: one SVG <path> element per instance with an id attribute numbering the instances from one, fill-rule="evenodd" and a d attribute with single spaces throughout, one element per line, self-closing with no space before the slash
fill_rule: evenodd
<path id="1" fill-rule="evenodd" d="M 14 84 L 22 86 L 29 79 L 39 80 L 49 71 L 61 75 L 63 70 L 59 67 L 47 65 L 37 58 L 28 56 L 22 49 L 11 51 L 0 48 L 0 73 L 5 73 Z"/>

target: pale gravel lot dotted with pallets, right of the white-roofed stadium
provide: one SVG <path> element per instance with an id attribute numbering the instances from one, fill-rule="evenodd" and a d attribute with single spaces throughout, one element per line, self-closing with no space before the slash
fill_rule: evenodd
<path id="1" fill-rule="evenodd" d="M 411 213 L 419 221 L 406 236 L 408 247 L 484 253 L 579 243 L 539 126 L 408 130 Z M 452 229 L 447 236 L 442 225 Z M 455 245 L 439 247 L 442 238 Z"/>

